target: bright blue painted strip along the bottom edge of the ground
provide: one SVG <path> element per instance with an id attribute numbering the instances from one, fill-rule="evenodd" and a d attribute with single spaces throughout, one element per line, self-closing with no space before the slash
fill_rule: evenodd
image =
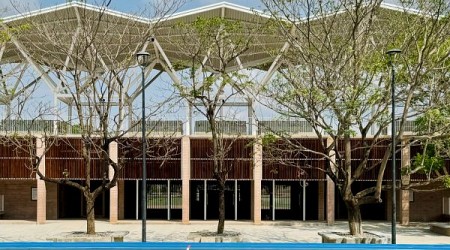
<path id="1" fill-rule="evenodd" d="M 104 249 L 161 249 L 161 250 L 200 250 L 200 249 L 435 249 L 450 250 L 450 245 L 408 245 L 408 244 L 321 244 L 321 243 L 194 243 L 194 242 L 4 242 L 2 250 L 104 250 Z"/>

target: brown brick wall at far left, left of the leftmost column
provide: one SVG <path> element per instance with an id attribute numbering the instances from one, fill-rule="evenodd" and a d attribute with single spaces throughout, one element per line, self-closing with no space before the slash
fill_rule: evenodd
<path id="1" fill-rule="evenodd" d="M 5 196 L 4 219 L 35 220 L 37 201 L 31 200 L 36 180 L 0 180 L 0 194 Z"/>

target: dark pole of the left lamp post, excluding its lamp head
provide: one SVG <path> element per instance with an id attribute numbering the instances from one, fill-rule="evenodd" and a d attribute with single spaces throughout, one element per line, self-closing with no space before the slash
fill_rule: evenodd
<path id="1" fill-rule="evenodd" d="M 145 138 L 145 74 L 142 71 L 142 242 L 147 241 L 147 140 Z"/>

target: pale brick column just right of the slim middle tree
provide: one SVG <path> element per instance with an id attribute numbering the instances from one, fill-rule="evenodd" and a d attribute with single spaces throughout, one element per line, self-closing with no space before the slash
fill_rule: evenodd
<path id="1" fill-rule="evenodd" d="M 252 180 L 252 219 L 254 224 L 261 224 L 261 180 L 262 180 L 262 141 L 253 146 L 253 180 Z"/>

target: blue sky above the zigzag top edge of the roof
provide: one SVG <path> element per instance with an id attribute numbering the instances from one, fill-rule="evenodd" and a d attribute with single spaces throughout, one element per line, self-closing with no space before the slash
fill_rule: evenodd
<path id="1" fill-rule="evenodd" d="M 135 14 L 140 12 L 142 9 L 149 6 L 150 1 L 164 1 L 164 0 L 112 0 L 110 8 L 118 10 L 121 12 L 126 12 L 129 14 Z M 198 8 L 214 3 L 222 2 L 220 0 L 185 0 L 186 4 L 180 9 L 188 10 L 193 8 Z M 26 12 L 27 10 L 35 10 L 39 8 L 45 8 L 49 6 L 54 6 L 58 4 L 65 3 L 66 0 L 0 0 L 0 16 L 10 16 L 17 14 L 17 12 Z M 87 3 L 98 5 L 101 4 L 103 0 L 87 0 Z M 227 2 L 255 8 L 263 9 L 259 0 L 228 0 Z"/>

